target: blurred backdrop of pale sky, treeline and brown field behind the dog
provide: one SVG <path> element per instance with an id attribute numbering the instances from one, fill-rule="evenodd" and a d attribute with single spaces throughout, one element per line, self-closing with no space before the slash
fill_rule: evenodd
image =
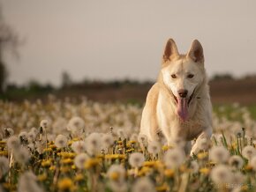
<path id="1" fill-rule="evenodd" d="M 256 2 L 0 1 L 0 97 L 143 103 L 169 37 L 198 39 L 215 105 L 256 106 Z M 256 108 L 256 107 L 255 107 Z"/>

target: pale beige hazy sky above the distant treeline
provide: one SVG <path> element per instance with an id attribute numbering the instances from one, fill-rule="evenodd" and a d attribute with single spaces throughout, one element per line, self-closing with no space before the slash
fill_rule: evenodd
<path id="1" fill-rule="evenodd" d="M 254 0 L 0 0 L 4 20 L 25 42 L 7 55 L 9 82 L 154 80 L 169 38 L 186 53 L 204 48 L 209 77 L 256 73 Z"/>

